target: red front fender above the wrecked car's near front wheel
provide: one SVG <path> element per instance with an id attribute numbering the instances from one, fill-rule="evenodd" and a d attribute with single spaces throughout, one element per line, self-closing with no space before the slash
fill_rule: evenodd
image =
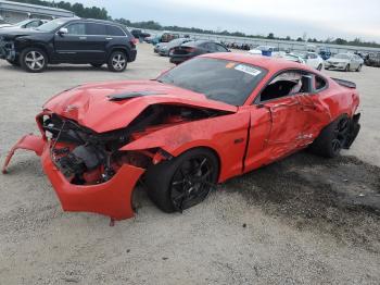
<path id="1" fill-rule="evenodd" d="M 161 148 L 173 157 L 185 151 L 206 147 L 216 152 L 220 162 L 218 182 L 242 173 L 242 161 L 248 140 L 249 112 L 240 112 L 167 126 L 121 148 L 122 151 Z M 153 158 L 159 163 L 161 152 Z"/>

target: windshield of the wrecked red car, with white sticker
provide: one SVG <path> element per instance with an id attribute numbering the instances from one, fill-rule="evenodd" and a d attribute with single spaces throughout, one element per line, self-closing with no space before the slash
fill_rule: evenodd
<path id="1" fill-rule="evenodd" d="M 157 80 L 203 94 L 211 100 L 242 106 L 265 74 L 264 69 L 246 63 L 197 58 L 161 75 Z"/>

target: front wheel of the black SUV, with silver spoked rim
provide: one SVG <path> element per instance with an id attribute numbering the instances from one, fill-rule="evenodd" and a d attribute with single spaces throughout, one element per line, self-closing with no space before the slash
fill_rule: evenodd
<path id="1" fill-rule="evenodd" d="M 27 48 L 21 52 L 20 64 L 27 72 L 39 73 L 47 67 L 48 57 L 39 48 Z"/>

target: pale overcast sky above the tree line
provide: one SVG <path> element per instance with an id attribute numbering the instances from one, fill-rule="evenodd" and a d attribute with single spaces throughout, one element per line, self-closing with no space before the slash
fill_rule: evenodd
<path id="1" fill-rule="evenodd" d="M 68 0 L 104 7 L 112 17 L 252 35 L 380 42 L 380 0 Z"/>

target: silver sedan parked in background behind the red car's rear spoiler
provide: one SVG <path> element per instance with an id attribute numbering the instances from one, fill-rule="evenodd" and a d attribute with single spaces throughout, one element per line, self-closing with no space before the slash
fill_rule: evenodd
<path id="1" fill-rule="evenodd" d="M 342 71 L 357 71 L 362 70 L 364 64 L 359 55 L 353 53 L 338 53 L 325 62 L 325 70 L 342 70 Z"/>

